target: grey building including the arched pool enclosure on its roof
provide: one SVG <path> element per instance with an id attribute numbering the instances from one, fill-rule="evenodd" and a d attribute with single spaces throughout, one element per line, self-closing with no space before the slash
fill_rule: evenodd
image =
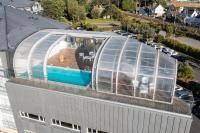
<path id="1" fill-rule="evenodd" d="M 19 133 L 189 133 L 174 96 L 177 62 L 104 32 L 40 30 L 13 57 L 6 84 Z"/>

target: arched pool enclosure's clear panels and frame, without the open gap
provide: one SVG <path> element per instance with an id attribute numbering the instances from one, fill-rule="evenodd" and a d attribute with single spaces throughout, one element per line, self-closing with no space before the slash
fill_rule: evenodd
<path id="1" fill-rule="evenodd" d="M 49 54 L 66 36 L 105 38 L 93 62 L 93 89 L 158 102 L 173 102 L 177 72 L 176 60 L 135 39 L 104 32 L 47 29 L 34 33 L 22 41 L 16 49 L 13 59 L 16 77 L 21 77 L 22 73 L 27 72 L 25 78 L 32 79 L 33 67 L 40 63 L 42 66 L 39 68 L 42 69 L 40 78 L 47 80 L 46 67 Z M 100 87 L 104 85 L 101 84 L 101 80 L 107 80 L 106 85 L 109 86 L 107 90 L 106 87 Z M 148 87 L 148 91 L 151 92 L 144 96 L 139 91 L 142 89 L 144 91 L 145 87 Z M 160 95 L 162 91 L 166 92 L 163 95 L 167 95 L 165 97 L 167 100 L 162 100 Z"/>

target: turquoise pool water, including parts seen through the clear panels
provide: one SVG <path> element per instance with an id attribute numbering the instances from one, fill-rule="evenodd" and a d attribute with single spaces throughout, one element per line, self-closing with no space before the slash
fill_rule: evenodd
<path id="1" fill-rule="evenodd" d="M 43 69 L 41 66 L 36 66 L 32 70 L 33 77 L 44 79 Z M 65 69 L 59 67 L 47 67 L 48 80 L 68 83 L 73 85 L 87 86 L 91 82 L 91 72 L 73 69 Z M 21 76 L 28 77 L 27 72 Z"/>

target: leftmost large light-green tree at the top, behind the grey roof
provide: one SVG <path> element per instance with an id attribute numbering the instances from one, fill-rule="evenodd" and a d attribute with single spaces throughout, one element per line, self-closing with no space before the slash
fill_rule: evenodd
<path id="1" fill-rule="evenodd" d="M 44 15 L 52 19 L 60 20 L 64 15 L 64 0 L 42 0 L 41 4 L 44 9 Z"/>

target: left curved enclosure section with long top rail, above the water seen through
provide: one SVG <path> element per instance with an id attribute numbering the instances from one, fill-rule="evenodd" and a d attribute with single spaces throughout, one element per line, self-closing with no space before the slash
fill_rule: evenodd
<path id="1" fill-rule="evenodd" d="M 46 29 L 40 30 L 26 39 L 24 39 L 16 48 L 13 58 L 13 68 L 15 76 L 22 77 L 22 73 L 27 72 L 24 77 L 32 79 L 32 67 L 34 63 L 41 63 L 42 73 L 41 78 L 47 80 L 46 63 L 48 55 L 52 48 L 61 41 L 64 36 L 69 37 L 84 37 L 84 38 L 108 38 L 110 33 L 105 32 L 90 32 L 90 31 L 74 31 L 61 29 Z M 39 68 L 41 70 L 41 68 Z"/>

